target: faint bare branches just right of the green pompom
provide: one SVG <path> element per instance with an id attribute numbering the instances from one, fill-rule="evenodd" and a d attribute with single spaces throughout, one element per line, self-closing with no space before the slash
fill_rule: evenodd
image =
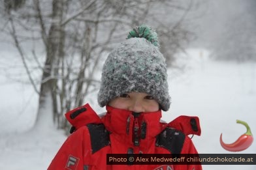
<path id="1" fill-rule="evenodd" d="M 185 52 L 185 46 L 195 35 L 187 27 L 187 15 L 197 9 L 194 1 L 161 1 L 152 5 L 147 23 L 157 30 L 161 44 L 161 52 L 166 57 L 167 66 L 173 67 L 174 55 Z"/>

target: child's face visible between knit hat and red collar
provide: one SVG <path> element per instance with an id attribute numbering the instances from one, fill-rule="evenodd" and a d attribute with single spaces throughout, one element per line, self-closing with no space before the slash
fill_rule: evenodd
<path id="1" fill-rule="evenodd" d="M 108 105 L 136 113 L 159 110 L 157 101 L 144 92 L 129 92 L 127 94 L 122 94 L 120 97 L 110 100 Z"/>

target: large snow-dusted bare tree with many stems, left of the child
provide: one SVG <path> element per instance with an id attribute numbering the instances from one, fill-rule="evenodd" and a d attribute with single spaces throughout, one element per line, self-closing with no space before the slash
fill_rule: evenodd
<path id="1" fill-rule="evenodd" d="M 6 23 L 2 30 L 12 38 L 29 80 L 39 94 L 36 122 L 39 128 L 44 127 L 46 119 L 53 120 L 52 125 L 56 124 L 57 128 L 66 128 L 63 113 L 81 106 L 85 96 L 99 88 L 95 72 L 102 57 L 131 27 L 150 22 L 146 18 L 153 16 L 151 10 L 155 5 L 168 5 L 163 8 L 166 15 L 178 8 L 170 2 L 156 0 L 2 0 L 2 3 L 1 16 Z M 188 37 L 182 29 L 184 16 L 176 24 L 165 23 L 161 17 L 152 18 L 157 21 L 152 25 L 159 27 L 161 35 L 168 36 L 166 43 L 177 45 L 173 49 L 180 48 L 179 41 Z M 24 48 L 27 43 L 31 44 L 30 50 Z M 42 74 L 39 83 L 31 75 L 29 59 L 37 63 Z"/>

